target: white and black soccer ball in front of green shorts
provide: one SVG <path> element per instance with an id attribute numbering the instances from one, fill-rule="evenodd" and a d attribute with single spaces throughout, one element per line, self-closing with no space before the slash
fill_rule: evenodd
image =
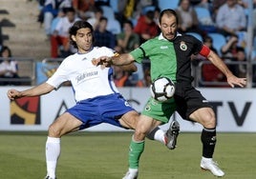
<path id="1" fill-rule="evenodd" d="M 150 92 L 154 99 L 164 102 L 174 95 L 175 86 L 171 79 L 160 77 L 151 84 Z"/>

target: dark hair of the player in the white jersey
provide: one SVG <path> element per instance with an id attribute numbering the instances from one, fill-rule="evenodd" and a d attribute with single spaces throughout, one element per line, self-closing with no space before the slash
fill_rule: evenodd
<path id="1" fill-rule="evenodd" d="M 94 33 L 94 28 L 93 26 L 88 23 L 87 21 L 76 21 L 75 24 L 70 28 L 70 40 L 71 40 L 71 44 L 77 48 L 76 43 L 73 41 L 72 39 L 72 35 L 76 35 L 77 30 L 83 29 L 83 28 L 89 28 L 91 30 L 92 33 Z"/>

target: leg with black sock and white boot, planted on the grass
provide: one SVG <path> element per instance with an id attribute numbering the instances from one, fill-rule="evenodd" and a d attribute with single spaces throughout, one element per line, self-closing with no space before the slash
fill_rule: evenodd
<path id="1" fill-rule="evenodd" d="M 216 176 L 224 176 L 224 171 L 212 160 L 216 145 L 216 118 L 213 109 L 197 109 L 190 114 L 189 118 L 203 125 L 201 168 L 210 170 Z"/>

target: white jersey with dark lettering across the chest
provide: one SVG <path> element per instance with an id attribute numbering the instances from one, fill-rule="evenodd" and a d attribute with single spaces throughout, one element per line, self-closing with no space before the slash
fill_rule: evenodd
<path id="1" fill-rule="evenodd" d="M 101 95 L 116 93 L 113 82 L 113 69 L 94 66 L 92 60 L 100 56 L 113 56 L 108 48 L 97 48 L 85 53 L 75 53 L 63 60 L 59 68 L 46 83 L 58 88 L 63 82 L 70 81 L 75 91 L 75 101 Z"/>

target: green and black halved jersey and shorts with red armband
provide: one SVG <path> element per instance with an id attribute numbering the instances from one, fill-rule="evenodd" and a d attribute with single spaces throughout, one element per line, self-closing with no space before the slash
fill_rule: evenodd
<path id="1" fill-rule="evenodd" d="M 201 92 L 191 85 L 191 55 L 207 55 L 208 52 L 200 40 L 191 35 L 181 34 L 172 41 L 166 40 L 160 34 L 131 51 L 131 55 L 139 63 L 144 58 L 150 60 L 152 80 L 165 76 L 175 82 L 176 88 L 174 97 L 164 103 L 150 97 L 141 113 L 168 123 L 175 110 L 183 119 L 190 120 L 189 115 L 193 111 L 211 108 Z"/>

